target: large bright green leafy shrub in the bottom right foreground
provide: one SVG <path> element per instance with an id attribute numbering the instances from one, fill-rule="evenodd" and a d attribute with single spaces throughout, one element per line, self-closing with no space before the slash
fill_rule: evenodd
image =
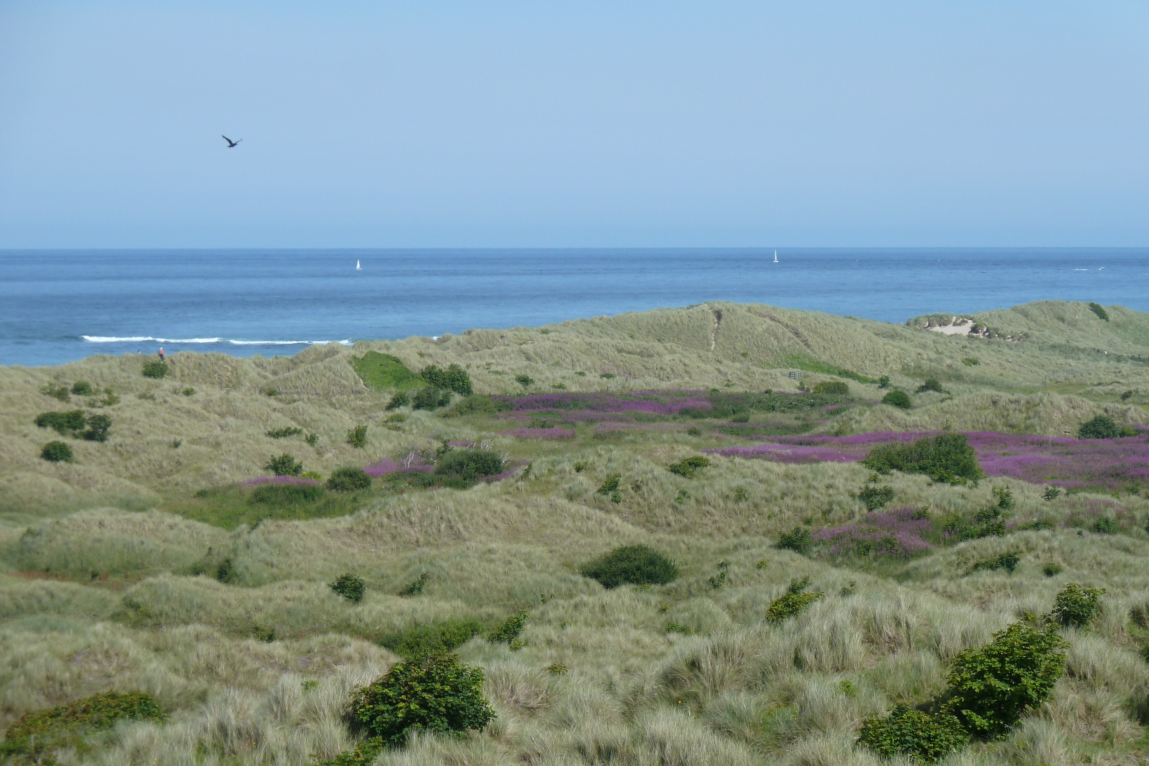
<path id="1" fill-rule="evenodd" d="M 973 734 L 1003 733 L 1049 697 L 1065 671 L 1061 650 L 1067 645 L 1052 628 L 1013 622 L 989 643 L 954 658 L 944 712 L 957 715 Z"/>

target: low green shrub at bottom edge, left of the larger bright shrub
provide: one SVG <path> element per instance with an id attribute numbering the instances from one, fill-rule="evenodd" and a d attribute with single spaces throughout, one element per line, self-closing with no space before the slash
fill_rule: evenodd
<path id="1" fill-rule="evenodd" d="M 886 718 L 862 721 L 857 743 L 886 758 L 908 756 L 932 764 L 969 741 L 970 735 L 956 717 L 897 705 Z"/>

